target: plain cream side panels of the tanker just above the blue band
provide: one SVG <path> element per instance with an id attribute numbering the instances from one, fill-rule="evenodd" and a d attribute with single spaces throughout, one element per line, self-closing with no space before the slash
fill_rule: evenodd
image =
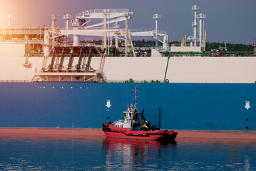
<path id="1" fill-rule="evenodd" d="M 41 70 L 43 57 L 30 57 L 31 68 L 23 66 L 25 60 L 21 56 L 0 57 L 0 80 L 31 81 Z M 92 58 L 93 69 L 98 70 L 100 62 L 100 57 Z M 167 62 L 166 57 L 106 57 L 103 72 L 107 81 L 163 81 Z M 50 63 L 48 57 L 46 66 Z M 67 63 L 68 57 L 63 66 Z M 73 66 L 76 63 L 78 58 Z M 255 83 L 255 66 L 255 57 L 171 57 L 166 79 L 170 83 Z"/>

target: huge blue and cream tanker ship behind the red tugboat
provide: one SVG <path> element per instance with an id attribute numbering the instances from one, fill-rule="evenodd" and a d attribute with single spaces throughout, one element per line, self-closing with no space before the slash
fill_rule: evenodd
<path id="1" fill-rule="evenodd" d="M 66 28 L 55 26 L 57 16 L 51 27 L 1 28 L 0 127 L 101 128 L 110 115 L 118 120 L 138 85 L 138 110 L 160 128 L 256 129 L 254 52 L 204 52 L 202 28 L 200 38 L 169 46 L 157 26 L 130 30 L 132 14 L 91 10 L 65 14 Z M 91 19 L 101 21 L 89 25 Z M 153 36 L 163 46 L 136 48 L 136 35 Z M 82 36 L 100 36 L 102 44 Z"/>

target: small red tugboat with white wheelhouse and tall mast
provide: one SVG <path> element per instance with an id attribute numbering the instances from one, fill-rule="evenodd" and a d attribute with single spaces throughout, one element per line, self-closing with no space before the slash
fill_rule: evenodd
<path id="1" fill-rule="evenodd" d="M 158 128 L 151 127 L 150 122 L 145 120 L 145 116 L 138 111 L 136 98 L 138 86 L 135 86 L 134 101 L 133 104 L 128 105 L 126 111 L 123 111 L 124 120 L 118 120 L 111 122 L 109 117 L 109 123 L 102 124 L 102 130 L 107 137 L 111 138 L 131 138 L 141 140 L 159 140 L 159 141 L 175 141 L 178 133 L 173 130 L 160 130 Z M 141 116 L 141 117 L 140 117 Z"/>

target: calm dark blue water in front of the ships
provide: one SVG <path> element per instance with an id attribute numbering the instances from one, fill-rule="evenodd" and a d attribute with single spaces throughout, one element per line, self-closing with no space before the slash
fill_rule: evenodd
<path id="1" fill-rule="evenodd" d="M 256 142 L 1 135 L 0 170 L 256 170 Z"/>

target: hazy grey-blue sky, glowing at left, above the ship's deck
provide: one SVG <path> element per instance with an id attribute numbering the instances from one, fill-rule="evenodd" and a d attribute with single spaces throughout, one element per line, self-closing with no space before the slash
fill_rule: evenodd
<path id="1" fill-rule="evenodd" d="M 154 29 L 153 14 L 158 13 L 159 29 L 168 33 L 169 41 L 181 41 L 185 34 L 193 35 L 191 7 L 195 4 L 200 6 L 198 14 L 206 14 L 207 41 L 251 44 L 256 38 L 256 0 L 0 0 L 0 27 L 6 26 L 7 14 L 14 16 L 13 26 L 51 26 L 51 15 L 56 14 L 56 26 L 63 27 L 63 13 L 129 9 L 133 11 L 130 29 Z"/>

